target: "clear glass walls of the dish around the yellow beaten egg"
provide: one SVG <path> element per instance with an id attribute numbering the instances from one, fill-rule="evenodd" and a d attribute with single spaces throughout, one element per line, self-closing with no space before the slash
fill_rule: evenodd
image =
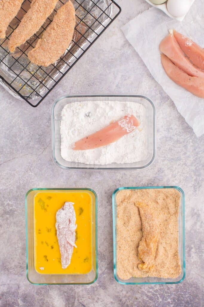
<path id="1" fill-rule="evenodd" d="M 39 274 L 35 270 L 34 253 L 34 197 L 38 192 L 87 192 L 92 199 L 92 269 L 87 274 Z M 98 277 L 97 256 L 97 195 L 88 188 L 34 188 L 25 196 L 26 212 L 26 275 L 30 283 L 35 285 L 50 284 L 92 284 Z"/>

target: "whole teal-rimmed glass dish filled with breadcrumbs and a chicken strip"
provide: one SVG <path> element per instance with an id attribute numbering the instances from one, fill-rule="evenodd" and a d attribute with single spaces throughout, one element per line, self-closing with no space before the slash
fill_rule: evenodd
<path id="1" fill-rule="evenodd" d="M 177 186 L 118 188 L 113 201 L 113 269 L 121 284 L 185 278 L 184 192 Z"/>

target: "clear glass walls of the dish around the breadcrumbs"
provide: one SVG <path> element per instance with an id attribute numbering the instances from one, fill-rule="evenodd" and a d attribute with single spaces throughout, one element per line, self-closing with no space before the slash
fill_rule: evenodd
<path id="1" fill-rule="evenodd" d="M 123 280 L 117 275 L 117 204 L 116 195 L 120 190 L 124 189 L 163 189 L 163 188 L 175 188 L 180 192 L 180 208 L 178 217 L 179 228 L 179 256 L 181 264 L 181 274 L 177 278 L 158 278 L 158 277 L 132 277 L 128 280 Z M 112 196 L 113 205 L 113 272 L 114 278 L 117 282 L 123 285 L 143 285 L 143 284 L 178 284 L 182 282 L 186 275 L 185 269 L 185 196 L 184 191 L 177 186 L 166 187 L 128 187 L 118 188 L 113 192 Z"/>

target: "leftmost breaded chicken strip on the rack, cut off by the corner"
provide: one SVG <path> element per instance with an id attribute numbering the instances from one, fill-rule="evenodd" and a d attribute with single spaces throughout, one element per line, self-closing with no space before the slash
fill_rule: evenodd
<path id="1" fill-rule="evenodd" d="M 23 0 L 0 0 L 0 38 L 6 37 L 6 29 L 17 15 Z"/>

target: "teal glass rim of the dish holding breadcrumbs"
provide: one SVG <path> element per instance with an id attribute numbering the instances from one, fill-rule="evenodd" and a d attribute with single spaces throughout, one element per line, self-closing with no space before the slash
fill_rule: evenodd
<path id="1" fill-rule="evenodd" d="M 163 281 L 164 278 L 161 278 L 162 281 L 161 282 L 125 282 L 122 280 L 119 280 L 119 278 L 117 277 L 117 223 L 116 223 L 116 219 L 117 219 L 117 212 L 116 212 L 116 195 L 117 192 L 121 191 L 121 190 L 137 190 L 137 189 L 163 189 L 163 188 L 175 188 L 177 189 L 180 194 L 182 195 L 182 202 L 181 202 L 181 206 L 182 206 L 182 266 L 183 266 L 183 276 L 181 277 L 180 280 L 178 281 Z M 121 188 L 117 188 L 112 195 L 112 209 L 113 209 L 113 274 L 114 274 L 114 278 L 115 280 L 122 284 L 122 285 L 157 285 L 157 284 L 178 284 L 180 282 L 182 282 L 186 276 L 186 261 L 185 261 L 185 195 L 184 195 L 184 191 L 178 187 L 178 186 L 153 186 L 153 187 L 121 187 Z"/>

